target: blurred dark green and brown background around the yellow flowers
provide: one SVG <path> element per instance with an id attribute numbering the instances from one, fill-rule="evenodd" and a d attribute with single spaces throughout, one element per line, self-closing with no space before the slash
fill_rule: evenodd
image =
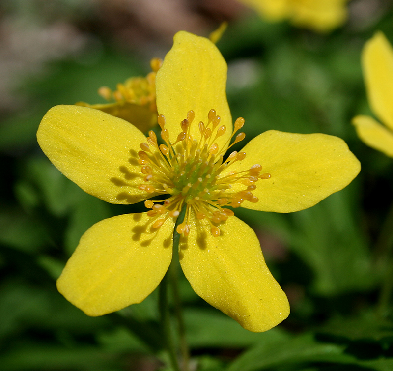
<path id="1" fill-rule="evenodd" d="M 0 2 L 0 370 L 168 370 L 156 292 L 97 318 L 57 292 L 87 228 L 143 207 L 85 194 L 41 152 L 35 132 L 52 106 L 103 103 L 100 86 L 146 75 L 176 31 L 208 36 L 222 21 L 229 106 L 246 119 L 246 140 L 269 129 L 336 135 L 362 171 L 308 210 L 236 209 L 258 235 L 291 314 L 250 333 L 182 277 L 193 370 L 393 370 L 393 159 L 365 146 L 350 123 L 371 114 L 360 55 L 376 30 L 393 42 L 393 10 L 384 0 L 348 6 L 343 27 L 317 34 L 266 23 L 234 0 Z"/>

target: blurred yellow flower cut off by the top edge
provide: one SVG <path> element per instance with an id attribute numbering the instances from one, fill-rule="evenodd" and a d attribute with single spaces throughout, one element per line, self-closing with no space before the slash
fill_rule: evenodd
<path id="1" fill-rule="evenodd" d="M 298 27 L 328 32 L 347 18 L 348 0 L 239 0 L 268 21 L 289 19 Z"/>

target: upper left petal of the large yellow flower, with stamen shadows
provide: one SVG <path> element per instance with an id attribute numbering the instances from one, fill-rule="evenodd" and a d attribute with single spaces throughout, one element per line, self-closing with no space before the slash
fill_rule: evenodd
<path id="1" fill-rule="evenodd" d="M 41 121 L 38 143 L 52 163 L 85 192 L 111 203 L 147 195 L 137 153 L 146 138 L 129 122 L 99 110 L 56 106 Z"/>

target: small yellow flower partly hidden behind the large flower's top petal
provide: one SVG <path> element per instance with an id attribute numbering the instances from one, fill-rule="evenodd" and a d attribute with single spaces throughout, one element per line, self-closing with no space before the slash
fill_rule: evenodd
<path id="1" fill-rule="evenodd" d="M 131 77 L 124 84 L 117 84 L 115 91 L 112 91 L 108 86 L 100 87 L 98 94 L 112 103 L 77 102 L 75 104 L 120 117 L 145 133 L 157 124 L 156 74 L 161 64 L 161 59 L 153 58 L 150 61 L 152 72 L 146 77 Z"/>

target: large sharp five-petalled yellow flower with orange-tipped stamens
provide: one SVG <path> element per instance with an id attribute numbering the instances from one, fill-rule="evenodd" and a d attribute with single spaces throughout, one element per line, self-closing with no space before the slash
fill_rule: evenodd
<path id="1" fill-rule="evenodd" d="M 226 63 L 216 46 L 181 31 L 157 74 L 162 144 L 153 131 L 146 138 L 128 122 L 86 107 L 56 106 L 43 118 L 38 142 L 64 175 L 102 200 L 146 200 L 151 209 L 84 233 L 57 281 L 84 313 L 140 303 L 157 287 L 185 207 L 179 257 L 197 294 L 254 332 L 289 314 L 255 233 L 224 206 L 302 210 L 349 184 L 360 164 L 339 138 L 275 130 L 224 159 L 228 143 L 245 136 L 232 131 L 225 85 Z M 235 121 L 235 132 L 243 123 Z M 164 194 L 166 200 L 151 200 Z"/>

